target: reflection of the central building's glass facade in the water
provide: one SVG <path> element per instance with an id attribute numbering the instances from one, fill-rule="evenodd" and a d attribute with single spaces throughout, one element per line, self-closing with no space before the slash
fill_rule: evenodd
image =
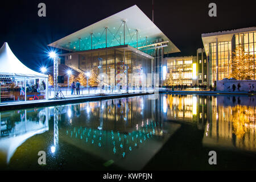
<path id="1" fill-rule="evenodd" d="M 147 119 L 161 122 L 158 116 L 160 113 L 153 114 L 153 110 L 158 110 L 161 106 L 156 102 L 159 101 L 145 100 L 143 97 L 129 97 L 65 105 L 59 109 L 60 114 L 62 113 L 60 120 L 67 126 L 81 125 L 92 129 L 129 132 L 136 130 L 137 125 L 142 126 Z M 53 107 L 49 113 L 53 116 Z M 158 127 L 161 130 L 160 125 Z"/>

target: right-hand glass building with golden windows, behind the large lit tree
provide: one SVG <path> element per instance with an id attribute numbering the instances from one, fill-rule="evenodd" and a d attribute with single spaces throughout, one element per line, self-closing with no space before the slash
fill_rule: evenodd
<path id="1" fill-rule="evenodd" d="M 256 27 L 202 34 L 205 53 L 209 62 L 209 84 L 232 77 L 233 52 L 242 46 L 245 54 L 251 55 L 255 80 Z"/>

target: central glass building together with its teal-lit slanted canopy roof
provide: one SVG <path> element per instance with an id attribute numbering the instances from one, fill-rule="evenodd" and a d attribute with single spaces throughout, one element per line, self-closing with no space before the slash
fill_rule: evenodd
<path id="1" fill-rule="evenodd" d="M 130 73 L 159 73 L 162 80 L 164 53 L 180 52 L 136 5 L 48 46 L 68 51 L 60 55 L 68 67 L 106 74 L 107 84 L 117 84 L 123 74 L 129 86 Z"/>

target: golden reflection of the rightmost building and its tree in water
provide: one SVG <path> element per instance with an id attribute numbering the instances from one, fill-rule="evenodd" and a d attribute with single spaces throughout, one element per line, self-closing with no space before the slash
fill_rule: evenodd
<path id="1" fill-rule="evenodd" d="M 239 100 L 246 105 L 237 104 Z M 209 109 L 204 144 L 256 151 L 255 96 L 212 97 Z"/>

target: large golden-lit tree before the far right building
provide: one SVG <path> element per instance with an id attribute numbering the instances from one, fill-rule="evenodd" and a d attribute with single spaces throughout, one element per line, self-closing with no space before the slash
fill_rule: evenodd
<path id="1" fill-rule="evenodd" d="M 237 80 L 249 80 L 254 77 L 253 56 L 245 53 L 242 46 L 236 47 L 233 52 L 231 75 Z"/>

